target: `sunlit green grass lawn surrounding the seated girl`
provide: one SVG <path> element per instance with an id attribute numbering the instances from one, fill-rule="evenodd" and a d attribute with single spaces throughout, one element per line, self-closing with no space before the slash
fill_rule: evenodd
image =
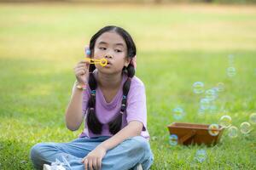
<path id="1" fill-rule="evenodd" d="M 118 25 L 137 42 L 137 77 L 147 89 L 152 169 L 255 169 L 256 129 L 213 147 L 168 144 L 172 109 L 183 106 L 182 122 L 213 123 L 228 114 L 233 125 L 256 110 L 256 7 L 96 6 L 0 4 L 0 169 L 32 169 L 29 150 L 43 141 L 67 142 L 64 112 L 73 86 L 73 66 L 84 45 L 102 26 Z M 235 55 L 237 75 L 226 76 Z M 197 116 L 207 88 L 224 82 L 218 111 Z M 194 161 L 198 149 L 207 160 Z"/>

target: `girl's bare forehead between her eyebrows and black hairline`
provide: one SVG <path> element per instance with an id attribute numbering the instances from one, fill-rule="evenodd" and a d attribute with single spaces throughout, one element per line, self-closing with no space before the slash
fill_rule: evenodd
<path id="1" fill-rule="evenodd" d="M 109 45 L 117 44 L 126 47 L 124 38 L 114 31 L 102 33 L 102 35 L 96 40 L 96 44 L 98 43 L 106 43 Z"/>

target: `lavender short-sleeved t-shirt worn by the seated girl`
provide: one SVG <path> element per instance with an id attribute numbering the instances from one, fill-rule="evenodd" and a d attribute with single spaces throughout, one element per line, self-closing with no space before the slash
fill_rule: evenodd
<path id="1" fill-rule="evenodd" d="M 97 71 L 94 71 L 94 76 L 97 77 Z M 98 137 L 98 136 L 113 136 L 109 132 L 108 122 L 113 120 L 113 117 L 120 114 L 121 101 L 123 97 L 123 85 L 127 79 L 127 76 L 124 74 L 122 79 L 121 88 L 119 88 L 118 93 L 110 103 L 107 103 L 100 88 L 96 88 L 96 116 L 99 121 L 102 122 L 102 133 L 95 134 L 90 131 L 85 121 L 84 131 L 79 135 L 80 138 L 86 136 L 89 138 Z M 83 92 L 83 112 L 86 113 L 88 110 L 87 103 L 90 99 L 90 88 L 84 90 Z M 143 131 L 141 136 L 145 139 L 149 139 L 148 129 L 147 129 L 147 107 L 146 107 L 146 94 L 143 82 L 137 78 L 131 78 L 131 86 L 129 93 L 127 95 L 127 106 L 126 111 L 123 114 L 123 124 L 122 128 L 125 127 L 128 122 L 138 121 L 143 122 Z"/>

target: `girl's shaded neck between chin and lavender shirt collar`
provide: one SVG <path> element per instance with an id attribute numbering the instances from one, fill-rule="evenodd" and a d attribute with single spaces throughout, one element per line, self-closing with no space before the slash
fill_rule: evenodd
<path id="1" fill-rule="evenodd" d="M 122 82 L 122 72 L 115 75 L 108 75 L 97 71 L 97 77 L 99 87 L 104 89 L 119 88 Z"/>

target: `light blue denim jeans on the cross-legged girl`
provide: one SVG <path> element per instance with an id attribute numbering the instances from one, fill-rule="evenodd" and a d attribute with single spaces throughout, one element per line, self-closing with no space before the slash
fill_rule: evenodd
<path id="1" fill-rule="evenodd" d="M 66 166 L 67 169 L 84 170 L 84 164 L 81 163 L 84 156 L 108 138 L 107 136 L 84 137 L 68 143 L 35 144 L 30 152 L 31 160 L 36 169 L 42 169 L 44 163 L 50 164 L 56 159 L 63 161 L 64 157 L 70 165 L 70 167 Z M 138 163 L 142 164 L 143 170 L 148 170 L 153 161 L 154 156 L 148 140 L 136 136 L 125 139 L 112 150 L 108 150 L 102 158 L 102 170 L 128 170 L 136 167 Z"/>

